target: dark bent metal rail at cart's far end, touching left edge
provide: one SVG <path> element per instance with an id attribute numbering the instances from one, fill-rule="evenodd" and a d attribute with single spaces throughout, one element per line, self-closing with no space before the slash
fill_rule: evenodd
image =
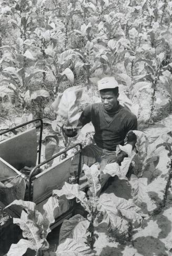
<path id="1" fill-rule="evenodd" d="M 9 132 L 9 131 L 13 131 L 13 130 L 18 129 L 18 128 L 20 128 L 20 127 L 23 127 L 23 126 L 32 124 L 32 122 L 36 122 L 36 121 L 41 122 L 41 124 L 39 124 L 39 125 L 36 126 L 36 129 L 40 128 L 39 149 L 37 150 L 37 152 L 39 153 L 39 155 L 38 155 L 38 164 L 40 164 L 40 162 L 41 162 L 42 135 L 43 135 L 43 120 L 42 120 L 41 118 L 37 118 L 37 119 L 31 120 L 31 121 L 25 122 L 25 123 L 22 124 L 22 125 L 18 125 L 18 126 L 15 126 L 15 127 L 13 127 L 13 128 L 10 128 L 10 129 L 8 129 L 8 130 L 2 131 L 2 132 L 0 132 L 0 136 L 3 135 L 3 134 L 6 134 L 6 133 Z"/>

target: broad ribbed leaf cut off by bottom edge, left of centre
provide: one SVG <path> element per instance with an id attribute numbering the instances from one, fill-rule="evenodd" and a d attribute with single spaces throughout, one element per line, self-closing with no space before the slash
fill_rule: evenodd
<path id="1" fill-rule="evenodd" d="M 85 243 L 78 243 L 73 239 L 67 238 L 64 243 L 61 243 L 57 251 L 56 256 L 83 256 L 91 253 L 89 246 Z"/>

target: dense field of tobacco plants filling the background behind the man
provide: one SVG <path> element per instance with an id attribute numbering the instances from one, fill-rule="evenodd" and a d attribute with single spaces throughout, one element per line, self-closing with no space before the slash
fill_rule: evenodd
<path id="1" fill-rule="evenodd" d="M 170 1 L 2 2 L 0 96 L 45 117 L 59 90 L 114 75 L 123 104 L 151 122 L 170 107 L 170 22 Z"/>

